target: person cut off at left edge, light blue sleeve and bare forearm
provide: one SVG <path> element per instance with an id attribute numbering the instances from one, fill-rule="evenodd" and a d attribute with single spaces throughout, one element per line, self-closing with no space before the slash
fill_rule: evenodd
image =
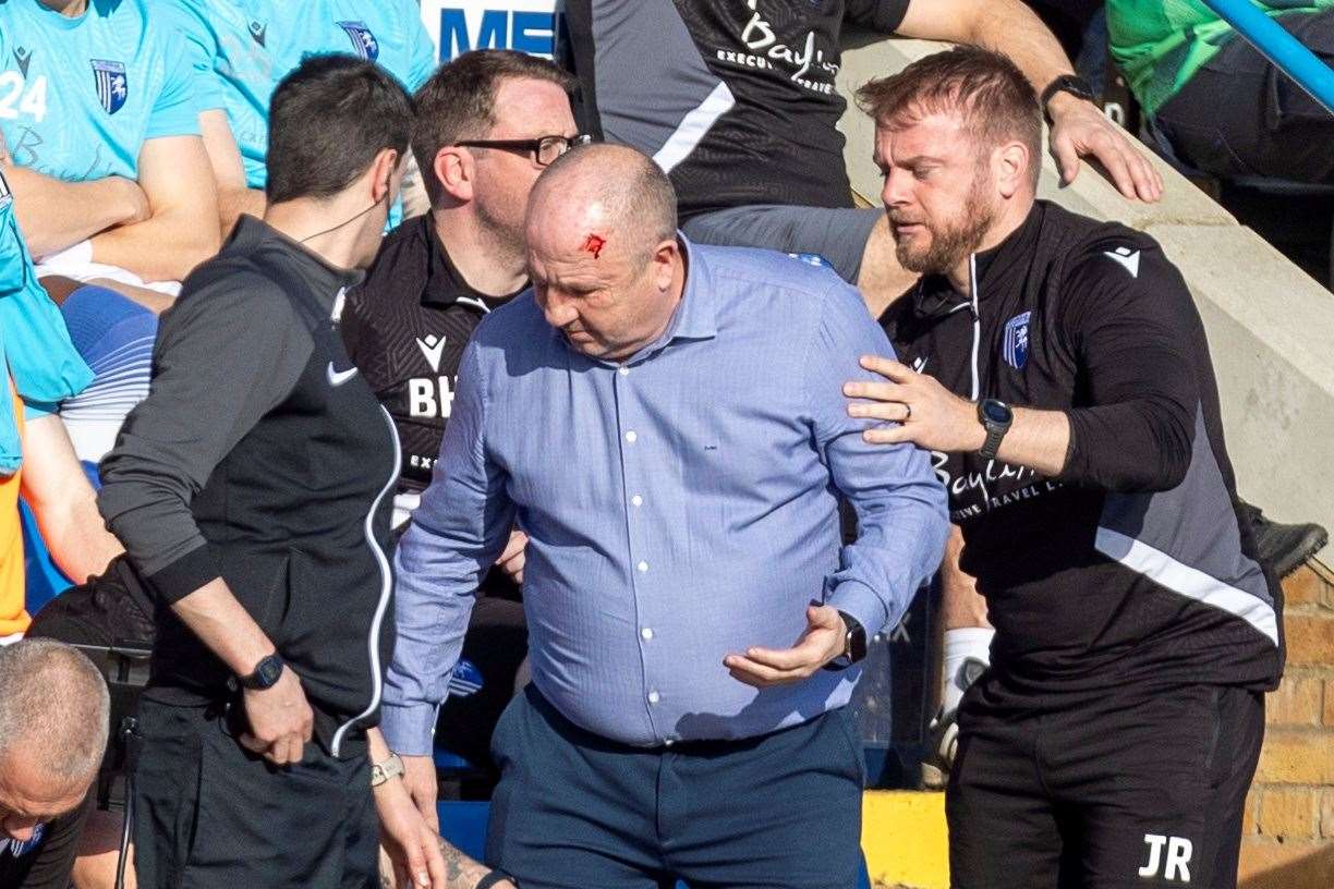
<path id="1" fill-rule="evenodd" d="M 28 626 L 19 496 L 37 520 L 55 564 L 81 582 L 120 552 L 107 533 L 92 486 L 75 458 L 55 405 L 91 379 L 32 271 L 0 175 L 0 644 Z M 12 407 L 11 407 L 12 405 Z"/>

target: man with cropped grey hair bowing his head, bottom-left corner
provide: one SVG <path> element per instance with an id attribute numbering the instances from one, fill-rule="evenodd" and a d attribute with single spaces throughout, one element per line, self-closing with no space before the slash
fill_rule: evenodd
<path id="1" fill-rule="evenodd" d="M 79 650 L 0 648 L 0 886 L 69 885 L 109 713 L 107 682 Z"/>

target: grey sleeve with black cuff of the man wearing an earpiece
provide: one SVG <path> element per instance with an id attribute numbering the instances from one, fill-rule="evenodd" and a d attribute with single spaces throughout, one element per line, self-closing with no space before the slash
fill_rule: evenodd
<path id="1" fill-rule="evenodd" d="M 313 348 L 285 297 L 263 288 L 260 280 L 215 285 L 163 317 L 152 391 L 101 461 L 97 508 L 168 602 L 212 580 L 191 502 L 291 393 Z"/>

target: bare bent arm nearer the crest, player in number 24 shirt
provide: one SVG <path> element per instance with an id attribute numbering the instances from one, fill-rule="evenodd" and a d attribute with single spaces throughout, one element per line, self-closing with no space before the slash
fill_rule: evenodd
<path id="1" fill-rule="evenodd" d="M 93 260 L 145 281 L 180 281 L 221 244 L 217 188 L 203 140 L 147 140 L 139 152 L 139 185 L 151 216 L 93 237 Z"/>

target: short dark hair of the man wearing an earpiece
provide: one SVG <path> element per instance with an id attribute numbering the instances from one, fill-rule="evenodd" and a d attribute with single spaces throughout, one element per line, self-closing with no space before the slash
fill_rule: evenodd
<path id="1" fill-rule="evenodd" d="M 412 137 L 412 99 L 384 69 L 350 55 L 307 56 L 268 109 L 271 203 L 327 199 Z"/>

